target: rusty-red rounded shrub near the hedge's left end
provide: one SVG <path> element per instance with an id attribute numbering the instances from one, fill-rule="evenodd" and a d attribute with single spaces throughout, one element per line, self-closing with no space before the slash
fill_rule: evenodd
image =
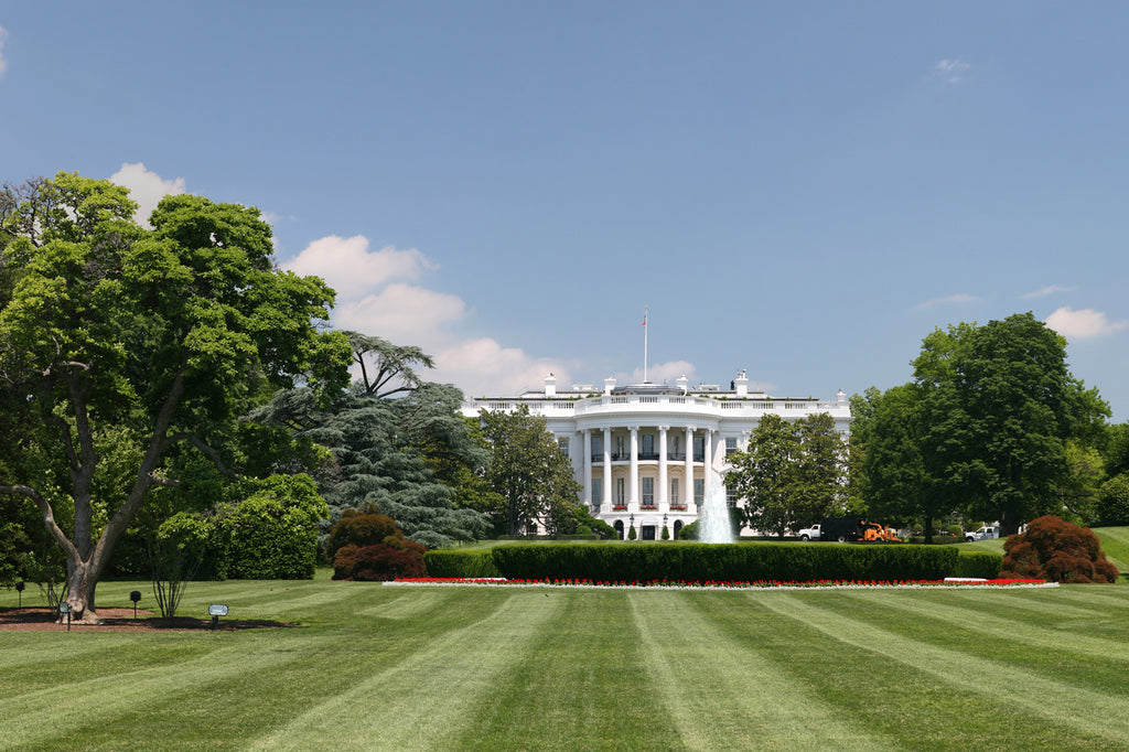
<path id="1" fill-rule="evenodd" d="M 333 579 L 390 580 L 422 577 L 426 548 L 404 537 L 395 521 L 373 507 L 347 509 L 330 531 L 326 556 Z"/>

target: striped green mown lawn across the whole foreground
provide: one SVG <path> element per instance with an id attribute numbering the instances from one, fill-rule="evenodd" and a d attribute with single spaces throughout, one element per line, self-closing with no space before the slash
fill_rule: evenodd
<path id="1" fill-rule="evenodd" d="M 135 588 L 152 603 L 99 603 Z M 209 602 L 303 626 L 0 631 L 0 747 L 1129 749 L 1122 586 L 230 582 L 182 612 Z"/>

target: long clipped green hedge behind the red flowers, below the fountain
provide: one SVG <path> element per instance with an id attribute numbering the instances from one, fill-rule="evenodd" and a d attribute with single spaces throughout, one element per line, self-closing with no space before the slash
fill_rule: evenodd
<path id="1" fill-rule="evenodd" d="M 811 582 L 942 579 L 957 551 L 933 545 L 795 543 L 619 543 L 500 545 L 491 550 L 509 579 L 592 582 Z M 431 576 L 437 576 L 430 570 Z"/>

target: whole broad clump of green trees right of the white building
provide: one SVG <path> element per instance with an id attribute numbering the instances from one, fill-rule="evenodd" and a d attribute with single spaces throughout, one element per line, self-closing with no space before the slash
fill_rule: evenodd
<path id="1" fill-rule="evenodd" d="M 1066 341 L 1031 313 L 935 330 L 913 379 L 852 401 L 864 408 L 852 492 L 868 515 L 916 518 L 929 540 L 933 522 L 955 510 L 999 519 L 1007 533 L 1064 505 L 1092 508 L 1089 447 L 1109 406 L 1070 375 Z"/>

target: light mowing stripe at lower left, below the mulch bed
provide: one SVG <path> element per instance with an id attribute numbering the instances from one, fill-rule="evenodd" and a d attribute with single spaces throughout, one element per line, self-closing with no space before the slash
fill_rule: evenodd
<path id="1" fill-rule="evenodd" d="M 73 737 L 94 718 L 106 718 L 141 708 L 167 708 L 173 698 L 201 683 L 217 682 L 248 672 L 278 670 L 296 659 L 298 650 L 316 648 L 327 638 L 280 637 L 261 649 L 231 646 L 172 666 L 151 666 L 111 676 L 75 681 L 5 700 L 0 740 L 18 738 L 21 745 L 43 746 L 49 740 Z M 286 654 L 287 648 L 295 653 Z M 50 718 L 49 723 L 44 719 Z"/>

